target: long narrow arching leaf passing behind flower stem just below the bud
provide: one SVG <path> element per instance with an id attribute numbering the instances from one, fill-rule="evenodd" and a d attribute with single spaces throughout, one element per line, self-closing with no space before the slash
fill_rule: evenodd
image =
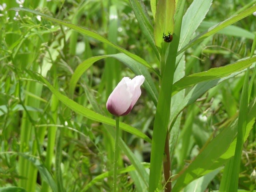
<path id="1" fill-rule="evenodd" d="M 50 91 L 57 96 L 57 98 L 66 106 L 68 106 L 70 109 L 72 109 L 74 112 L 81 114 L 85 116 L 86 118 L 89 118 L 91 120 L 97 121 L 97 122 L 102 122 L 108 125 L 115 126 L 115 120 L 108 118 L 106 116 L 103 116 L 101 114 L 98 114 L 76 102 L 68 98 L 67 96 L 61 94 L 58 90 L 56 90 L 43 76 L 40 74 L 36 74 L 30 70 L 27 70 L 27 72 L 30 74 L 30 76 L 33 76 L 33 78 L 36 78 L 38 81 L 46 84 L 46 86 L 50 89 Z M 138 136 L 139 138 L 142 138 L 146 140 L 147 142 L 151 142 L 150 138 L 146 136 L 144 133 L 140 132 L 136 128 L 129 126 L 128 124 L 120 122 L 120 128 L 122 130 L 127 131 L 131 134 L 134 134 Z"/>

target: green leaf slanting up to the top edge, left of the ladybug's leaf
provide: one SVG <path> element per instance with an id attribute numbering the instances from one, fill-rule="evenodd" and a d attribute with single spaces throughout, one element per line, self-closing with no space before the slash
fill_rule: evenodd
<path id="1" fill-rule="evenodd" d="M 134 11 L 134 14 L 136 16 L 136 19 L 138 20 L 138 24 L 140 25 L 140 30 L 148 40 L 148 43 L 150 44 L 156 57 L 159 60 L 159 52 L 154 42 L 153 24 L 150 20 L 150 17 L 148 16 L 146 6 L 144 5 L 142 0 L 129 0 L 129 1 L 132 6 L 132 10 Z"/>

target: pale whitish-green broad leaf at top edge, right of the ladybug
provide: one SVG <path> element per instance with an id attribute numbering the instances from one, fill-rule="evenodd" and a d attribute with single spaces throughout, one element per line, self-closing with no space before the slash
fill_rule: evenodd
<path id="1" fill-rule="evenodd" d="M 212 0 L 194 0 L 182 19 L 179 49 L 188 44 L 190 38 L 204 20 Z"/>

